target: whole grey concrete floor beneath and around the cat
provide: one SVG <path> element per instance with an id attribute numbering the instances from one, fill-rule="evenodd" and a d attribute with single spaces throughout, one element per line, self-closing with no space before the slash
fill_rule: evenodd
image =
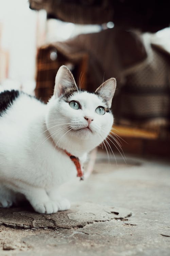
<path id="1" fill-rule="evenodd" d="M 61 187 L 69 211 L 0 209 L 0 255 L 170 255 L 170 162 L 99 152 L 86 181 Z"/>

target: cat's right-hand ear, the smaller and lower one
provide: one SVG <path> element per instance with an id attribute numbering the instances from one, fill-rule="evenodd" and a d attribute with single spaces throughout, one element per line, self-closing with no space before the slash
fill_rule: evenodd
<path id="1" fill-rule="evenodd" d="M 115 94 L 115 90 L 116 90 L 116 79 L 110 78 L 106 80 L 103 84 L 101 84 L 97 88 L 95 93 L 100 95 L 102 98 L 104 98 L 108 103 L 108 107 L 111 108 L 112 99 Z"/>

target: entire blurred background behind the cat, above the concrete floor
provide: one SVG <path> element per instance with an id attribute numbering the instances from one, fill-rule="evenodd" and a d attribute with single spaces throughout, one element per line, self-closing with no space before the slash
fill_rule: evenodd
<path id="1" fill-rule="evenodd" d="M 88 91 L 116 77 L 122 150 L 169 156 L 169 10 L 153 0 L 0 0 L 0 90 L 47 102 L 61 65 Z"/>

